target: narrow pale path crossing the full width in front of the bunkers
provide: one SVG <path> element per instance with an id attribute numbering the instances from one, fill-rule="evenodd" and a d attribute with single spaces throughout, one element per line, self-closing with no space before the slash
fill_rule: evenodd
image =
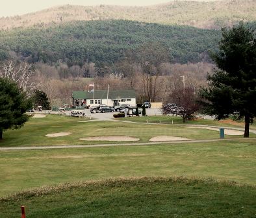
<path id="1" fill-rule="evenodd" d="M 162 145 L 162 144 L 177 144 L 177 143 L 203 143 L 211 141 L 234 141 L 238 138 L 229 139 L 192 139 L 187 141 L 151 141 L 151 142 L 138 142 L 138 143 L 109 143 L 109 144 L 96 144 L 96 145 L 51 145 L 51 146 L 38 146 L 38 147 L 0 147 L 0 151 L 8 150 L 34 150 L 34 149 L 73 149 L 83 147 L 112 147 L 112 146 L 135 146 L 135 145 Z M 241 138 L 240 138 L 241 139 Z M 248 140 L 256 138 L 242 138 Z"/>

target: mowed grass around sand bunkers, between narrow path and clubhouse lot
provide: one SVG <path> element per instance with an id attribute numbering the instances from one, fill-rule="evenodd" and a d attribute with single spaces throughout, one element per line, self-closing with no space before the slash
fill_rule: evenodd
<path id="1" fill-rule="evenodd" d="M 153 119 L 154 117 L 151 118 Z M 157 118 L 159 119 L 159 117 Z M 165 117 L 161 118 L 166 119 Z M 142 117 L 141 119 L 146 118 Z M 60 115 L 47 115 L 44 118 L 31 118 L 27 123 L 25 123 L 24 127 L 18 130 L 7 130 L 4 132 L 4 139 L 0 141 L 0 146 L 17 147 L 110 143 L 108 141 L 79 140 L 79 138 L 84 138 L 87 136 L 133 136 L 139 138 L 140 142 L 146 142 L 154 136 L 178 136 L 188 139 L 219 138 L 218 131 L 184 128 L 179 125 L 147 125 L 115 121 L 79 122 L 83 120 L 86 121 L 84 118 L 65 117 Z M 181 119 L 179 118 L 179 120 Z M 195 121 L 194 124 L 214 124 L 214 122 L 216 121 L 201 120 L 200 122 Z M 71 135 L 57 138 L 49 138 L 45 136 L 46 134 L 56 132 L 71 132 Z M 255 134 L 251 134 L 251 137 L 255 136 Z M 242 136 L 226 136 L 226 138 L 242 138 Z M 113 141 L 111 143 L 118 142 Z"/>

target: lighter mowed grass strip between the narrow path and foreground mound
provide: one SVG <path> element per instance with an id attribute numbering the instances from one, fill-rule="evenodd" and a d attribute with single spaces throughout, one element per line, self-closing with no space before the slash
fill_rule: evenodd
<path id="1" fill-rule="evenodd" d="M 0 151 L 0 196 L 120 176 L 199 176 L 256 184 L 256 140 Z"/>

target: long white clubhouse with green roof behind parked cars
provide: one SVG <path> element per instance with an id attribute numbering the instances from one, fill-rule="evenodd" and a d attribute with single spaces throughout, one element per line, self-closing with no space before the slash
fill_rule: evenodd
<path id="1" fill-rule="evenodd" d="M 72 91 L 73 106 L 97 106 L 99 104 L 107 104 L 108 106 L 118 106 L 120 104 L 136 104 L 136 93 L 134 90 L 96 90 L 88 91 Z"/>

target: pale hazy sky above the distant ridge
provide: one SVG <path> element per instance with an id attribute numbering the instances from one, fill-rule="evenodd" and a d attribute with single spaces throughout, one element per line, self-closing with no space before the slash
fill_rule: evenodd
<path id="1" fill-rule="evenodd" d="M 57 5 L 156 5 L 172 0 L 0 0 L 0 17 L 36 12 Z"/>

